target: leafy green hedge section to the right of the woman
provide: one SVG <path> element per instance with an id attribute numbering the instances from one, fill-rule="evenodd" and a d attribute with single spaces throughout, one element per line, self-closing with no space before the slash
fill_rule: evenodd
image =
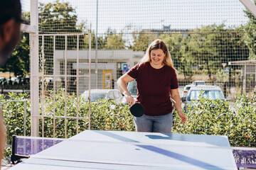
<path id="1" fill-rule="evenodd" d="M 256 146 L 256 96 L 238 95 L 235 110 L 228 101 L 201 98 L 188 106 L 188 122 L 180 124 L 174 113 L 174 133 L 198 135 L 227 135 L 233 147 Z"/>

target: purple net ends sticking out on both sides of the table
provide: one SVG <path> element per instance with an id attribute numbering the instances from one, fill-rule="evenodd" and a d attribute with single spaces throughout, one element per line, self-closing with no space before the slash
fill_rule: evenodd
<path id="1" fill-rule="evenodd" d="M 48 149 L 63 140 L 49 137 L 23 137 L 13 136 L 11 162 L 16 164 L 23 158 L 28 158 L 33 154 Z M 233 155 L 238 168 L 256 169 L 256 148 L 233 147 Z"/>

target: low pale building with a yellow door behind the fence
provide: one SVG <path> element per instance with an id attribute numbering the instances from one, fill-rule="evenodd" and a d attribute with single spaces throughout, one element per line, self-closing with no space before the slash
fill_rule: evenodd
<path id="1" fill-rule="evenodd" d="M 117 89 L 116 81 L 133 67 L 144 56 L 144 52 L 133 50 L 91 50 L 91 88 L 92 89 Z M 67 72 L 65 72 L 65 58 L 67 61 Z M 125 66 L 125 68 L 124 68 Z M 126 67 L 128 67 L 126 69 Z M 75 75 L 89 74 L 89 51 L 88 50 L 56 50 L 55 51 L 55 74 L 74 75 L 68 77 L 68 84 L 75 82 Z M 97 79 L 97 81 L 96 81 Z M 114 82 L 113 82 L 114 81 Z M 79 79 L 79 94 L 88 89 L 88 78 Z"/>

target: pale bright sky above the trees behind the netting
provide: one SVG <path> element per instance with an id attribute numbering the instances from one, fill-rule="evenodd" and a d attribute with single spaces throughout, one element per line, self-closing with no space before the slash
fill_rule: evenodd
<path id="1" fill-rule="evenodd" d="M 210 24 L 225 23 L 226 26 L 240 26 L 247 23 L 238 0 L 60 0 L 69 2 L 78 14 L 78 21 L 87 24 L 98 33 L 107 28 L 119 33 L 130 25 L 139 29 L 192 29 Z M 28 11 L 30 0 L 21 0 L 23 10 Z M 53 0 L 39 0 L 48 3 Z"/>

